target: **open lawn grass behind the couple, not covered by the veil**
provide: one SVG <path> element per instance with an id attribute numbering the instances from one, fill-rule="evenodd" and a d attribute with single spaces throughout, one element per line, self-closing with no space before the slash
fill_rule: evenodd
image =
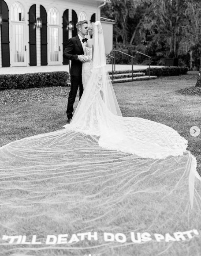
<path id="1" fill-rule="evenodd" d="M 192 126 L 201 128 L 201 98 L 176 92 L 194 86 L 196 79 L 194 74 L 169 76 L 115 84 L 114 90 L 123 116 L 163 123 L 186 138 L 187 149 L 197 158 L 197 170 L 201 173 L 201 135 L 192 137 L 189 133 Z M 65 88 L 65 94 L 69 89 Z M 77 103 L 78 98 L 75 107 Z M 20 138 L 63 129 L 67 122 L 66 107 L 66 96 L 0 105 L 0 146 Z"/>

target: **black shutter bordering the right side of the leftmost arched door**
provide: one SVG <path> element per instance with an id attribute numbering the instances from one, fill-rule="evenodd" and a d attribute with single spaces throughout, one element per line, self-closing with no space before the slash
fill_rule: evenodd
<path id="1" fill-rule="evenodd" d="M 33 4 L 29 11 L 29 44 L 30 44 L 30 66 L 37 65 L 36 58 L 36 5 Z"/>

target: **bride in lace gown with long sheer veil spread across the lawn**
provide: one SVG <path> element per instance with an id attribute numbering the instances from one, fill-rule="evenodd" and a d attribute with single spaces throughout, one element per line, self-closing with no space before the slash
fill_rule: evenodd
<path id="1" fill-rule="evenodd" d="M 98 233 L 51 251 L 34 248 L 44 255 L 199 255 L 196 159 L 171 127 L 121 115 L 99 21 L 89 24 L 89 34 L 84 92 L 71 123 L 0 148 L 1 233 L 29 230 L 41 240 L 47 233 Z M 118 235 L 107 240 L 103 233 Z"/>

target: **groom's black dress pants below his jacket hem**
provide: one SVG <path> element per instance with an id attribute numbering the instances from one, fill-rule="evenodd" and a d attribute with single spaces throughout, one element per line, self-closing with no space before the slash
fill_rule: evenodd
<path id="1" fill-rule="evenodd" d="M 83 84 L 82 84 L 82 76 L 71 76 L 71 91 L 68 96 L 68 105 L 67 105 L 67 118 L 73 117 L 73 104 L 78 92 L 79 87 L 79 99 L 82 97 L 83 93 Z"/>

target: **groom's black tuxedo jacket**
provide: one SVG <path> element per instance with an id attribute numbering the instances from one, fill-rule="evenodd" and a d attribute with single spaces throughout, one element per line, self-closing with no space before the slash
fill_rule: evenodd
<path id="1" fill-rule="evenodd" d="M 78 35 L 68 39 L 63 57 L 71 60 L 71 76 L 82 76 L 82 61 L 78 60 L 78 55 L 82 54 L 84 51 Z"/>

